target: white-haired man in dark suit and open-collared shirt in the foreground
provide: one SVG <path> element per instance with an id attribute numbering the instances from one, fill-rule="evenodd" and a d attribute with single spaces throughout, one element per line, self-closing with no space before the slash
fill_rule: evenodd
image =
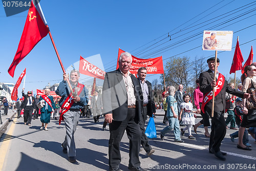
<path id="1" fill-rule="evenodd" d="M 105 74 L 102 100 L 105 121 L 110 124 L 109 165 L 110 170 L 120 170 L 120 141 L 124 131 L 130 140 L 129 169 L 145 170 L 140 167 L 139 151 L 141 130 L 139 126 L 143 108 L 143 95 L 139 80 L 129 70 L 132 55 L 121 53 L 119 69 Z"/>

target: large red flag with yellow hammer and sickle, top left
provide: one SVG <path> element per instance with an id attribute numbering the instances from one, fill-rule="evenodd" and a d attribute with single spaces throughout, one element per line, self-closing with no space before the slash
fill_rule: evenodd
<path id="1" fill-rule="evenodd" d="M 43 20 L 44 19 L 44 20 Z M 39 3 L 36 7 L 31 1 L 28 16 L 19 40 L 18 49 L 12 61 L 8 73 L 13 77 L 16 66 L 27 54 L 36 46 L 36 44 L 48 34 L 44 15 L 41 13 Z"/>

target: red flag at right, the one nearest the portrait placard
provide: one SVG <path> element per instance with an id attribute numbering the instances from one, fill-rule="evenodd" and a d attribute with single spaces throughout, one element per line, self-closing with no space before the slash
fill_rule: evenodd
<path id="1" fill-rule="evenodd" d="M 233 61 L 232 61 L 232 65 L 230 68 L 230 72 L 231 73 L 235 73 L 238 70 L 242 70 L 242 62 L 244 61 L 243 55 L 241 53 L 240 47 L 239 47 L 239 41 L 237 40 L 237 46 L 236 46 L 236 50 L 234 50 L 234 57 L 233 57 Z"/>

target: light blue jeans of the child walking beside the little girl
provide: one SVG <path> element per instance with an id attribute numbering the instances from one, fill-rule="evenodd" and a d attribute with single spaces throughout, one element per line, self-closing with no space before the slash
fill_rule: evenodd
<path id="1" fill-rule="evenodd" d="M 179 123 L 178 118 L 167 116 L 167 119 L 168 119 L 169 125 L 166 126 L 161 131 L 161 135 L 165 136 L 166 133 L 168 133 L 174 129 L 175 140 L 180 140 L 180 123 Z"/>

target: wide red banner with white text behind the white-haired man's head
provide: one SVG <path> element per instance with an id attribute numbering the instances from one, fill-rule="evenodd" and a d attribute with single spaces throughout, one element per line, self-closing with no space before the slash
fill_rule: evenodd
<path id="1" fill-rule="evenodd" d="M 116 69 L 119 68 L 118 60 L 121 53 L 123 52 L 125 51 L 119 48 Z M 131 74 L 137 74 L 138 69 L 140 67 L 145 67 L 147 70 L 147 74 L 163 74 L 164 73 L 162 56 L 156 57 L 156 58 L 149 58 L 149 59 L 140 59 L 132 55 L 132 58 L 133 58 L 133 62 L 129 70 Z"/>

